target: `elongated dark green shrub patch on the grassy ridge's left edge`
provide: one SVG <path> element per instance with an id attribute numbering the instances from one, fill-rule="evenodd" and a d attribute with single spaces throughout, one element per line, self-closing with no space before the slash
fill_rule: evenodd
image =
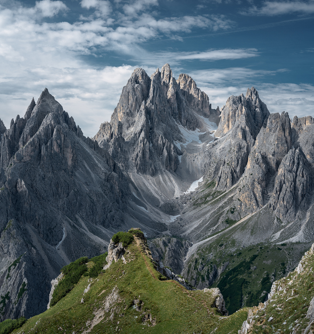
<path id="1" fill-rule="evenodd" d="M 61 298 L 63 298 L 74 288 L 74 285 L 77 282 L 79 282 L 82 275 L 88 270 L 86 265 L 87 261 L 87 257 L 80 258 L 61 269 L 64 277 L 53 291 L 50 307 L 55 305 Z"/>

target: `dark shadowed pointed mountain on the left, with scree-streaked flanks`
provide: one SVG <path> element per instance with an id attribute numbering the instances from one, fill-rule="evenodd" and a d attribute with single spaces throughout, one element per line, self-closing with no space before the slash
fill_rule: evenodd
<path id="1" fill-rule="evenodd" d="M 104 253 L 125 224 L 129 184 L 47 90 L 11 122 L 0 153 L 2 320 L 43 312 L 61 267 Z"/>

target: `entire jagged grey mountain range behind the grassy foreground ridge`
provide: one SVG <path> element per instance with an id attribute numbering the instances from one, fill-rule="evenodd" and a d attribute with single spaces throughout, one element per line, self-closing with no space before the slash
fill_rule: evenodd
<path id="1" fill-rule="evenodd" d="M 253 87 L 220 110 L 169 64 L 137 68 L 93 138 L 47 89 L 0 133 L 1 320 L 43 312 L 60 268 L 119 230 L 140 227 L 153 260 L 218 287 L 229 313 L 314 241 L 314 119 L 270 114 Z"/>

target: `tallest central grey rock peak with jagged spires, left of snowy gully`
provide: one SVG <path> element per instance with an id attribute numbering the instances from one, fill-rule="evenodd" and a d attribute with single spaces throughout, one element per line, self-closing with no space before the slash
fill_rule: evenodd
<path id="1" fill-rule="evenodd" d="M 125 171 L 135 167 L 151 176 L 175 171 L 182 153 L 174 141 L 183 141 L 178 124 L 192 131 L 202 128 L 195 113 L 215 121 L 219 118 L 219 110 L 210 108 L 207 95 L 192 78 L 182 74 L 176 81 L 169 64 L 151 77 L 137 68 L 122 90 L 110 123 L 102 124 L 94 138 Z"/>

